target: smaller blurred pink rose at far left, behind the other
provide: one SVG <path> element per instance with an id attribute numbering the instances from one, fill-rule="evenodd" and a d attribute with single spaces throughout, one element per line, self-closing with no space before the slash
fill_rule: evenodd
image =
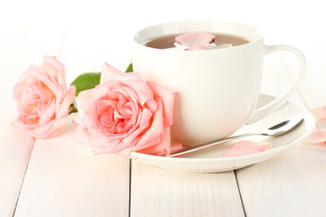
<path id="1" fill-rule="evenodd" d="M 65 69 L 55 57 L 44 56 L 43 66 L 30 66 L 14 86 L 19 116 L 14 125 L 32 137 L 58 135 L 68 117 L 76 88 L 67 90 Z"/>

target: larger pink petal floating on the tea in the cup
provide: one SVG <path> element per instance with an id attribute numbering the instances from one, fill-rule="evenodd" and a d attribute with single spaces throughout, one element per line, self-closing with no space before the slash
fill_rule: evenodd
<path id="1" fill-rule="evenodd" d="M 216 36 L 211 33 L 185 33 L 178 35 L 175 40 L 186 46 L 205 45 L 214 42 Z"/>

